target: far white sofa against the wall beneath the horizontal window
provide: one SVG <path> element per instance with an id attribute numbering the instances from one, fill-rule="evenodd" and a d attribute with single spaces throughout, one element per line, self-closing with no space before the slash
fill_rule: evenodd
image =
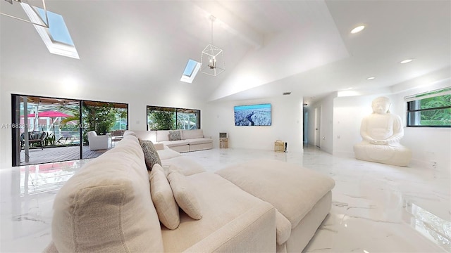
<path id="1" fill-rule="evenodd" d="M 169 134 L 174 131 L 180 132 L 180 140 L 170 140 Z M 202 129 L 151 130 L 134 132 L 140 136 L 140 138 L 144 138 L 145 136 L 145 140 L 152 141 L 153 143 L 163 143 L 179 153 L 208 150 L 213 148 L 213 140 L 211 137 L 204 136 L 204 131 Z"/>

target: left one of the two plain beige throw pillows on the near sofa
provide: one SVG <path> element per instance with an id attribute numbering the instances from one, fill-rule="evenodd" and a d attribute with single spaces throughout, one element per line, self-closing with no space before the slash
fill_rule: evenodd
<path id="1" fill-rule="evenodd" d="M 149 172 L 150 195 L 154 202 L 156 214 L 166 228 L 175 229 L 180 225 L 178 205 L 169 186 L 168 179 L 160 164 L 155 164 Z"/>

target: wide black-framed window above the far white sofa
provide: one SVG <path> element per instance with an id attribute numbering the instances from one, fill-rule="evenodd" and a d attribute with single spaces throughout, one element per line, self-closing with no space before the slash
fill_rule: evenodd
<path id="1" fill-rule="evenodd" d="M 200 110 L 147 106 L 147 129 L 200 129 Z"/>

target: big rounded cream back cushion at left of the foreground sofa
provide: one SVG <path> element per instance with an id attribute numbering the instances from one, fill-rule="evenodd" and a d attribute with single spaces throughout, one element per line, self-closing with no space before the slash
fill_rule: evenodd
<path id="1" fill-rule="evenodd" d="M 149 188 L 141 146 L 125 136 L 58 191 L 51 222 L 58 252 L 163 252 Z"/>

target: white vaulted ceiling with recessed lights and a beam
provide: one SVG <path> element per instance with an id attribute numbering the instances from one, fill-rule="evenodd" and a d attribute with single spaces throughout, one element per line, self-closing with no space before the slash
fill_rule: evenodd
<path id="1" fill-rule="evenodd" d="M 32 3 L 31 0 L 30 2 Z M 63 15 L 80 59 L 56 56 L 35 28 L 0 16 L 0 73 L 51 83 L 71 77 L 100 89 L 169 92 L 193 99 L 281 96 L 304 100 L 450 77 L 451 1 L 46 1 Z M 0 0 L 0 11 L 24 15 Z M 180 82 L 211 42 L 226 71 Z M 357 25 L 366 28 L 350 34 Z M 401 60 L 413 58 L 408 64 Z M 376 77 L 367 80 L 368 77 Z M 426 82 L 426 81 L 424 81 Z"/>

